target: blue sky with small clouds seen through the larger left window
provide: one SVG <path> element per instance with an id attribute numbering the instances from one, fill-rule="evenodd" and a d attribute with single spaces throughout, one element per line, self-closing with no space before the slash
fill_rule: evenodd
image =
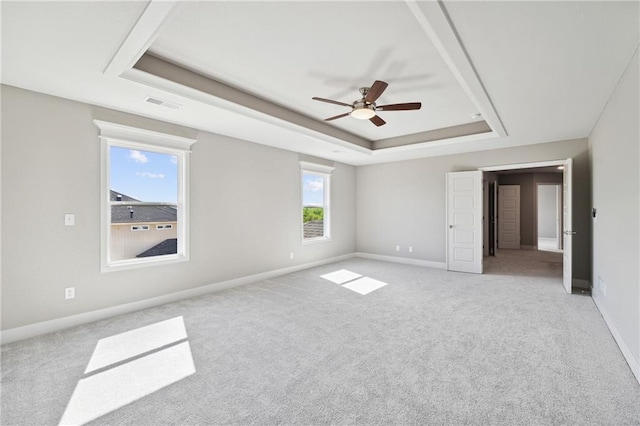
<path id="1" fill-rule="evenodd" d="M 110 148 L 111 189 L 140 201 L 178 200 L 177 158 L 169 154 Z"/>

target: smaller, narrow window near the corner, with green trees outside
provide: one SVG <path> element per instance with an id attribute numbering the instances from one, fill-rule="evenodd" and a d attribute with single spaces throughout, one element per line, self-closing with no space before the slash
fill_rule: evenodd
<path id="1" fill-rule="evenodd" d="M 333 167 L 300 162 L 302 169 L 302 241 L 328 241 L 331 236 L 329 187 Z"/>

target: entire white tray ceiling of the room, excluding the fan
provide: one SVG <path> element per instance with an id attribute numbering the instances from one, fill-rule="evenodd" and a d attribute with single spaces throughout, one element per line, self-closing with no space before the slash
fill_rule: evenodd
<path id="1" fill-rule="evenodd" d="M 638 2 L 611 1 L 3 1 L 1 77 L 372 164 L 588 136 L 638 46 L 638 10 Z M 185 84 L 132 69 L 147 49 L 215 81 L 196 87 L 193 75 Z M 378 104 L 422 102 L 422 109 L 380 112 L 382 127 L 322 121 L 348 110 L 311 97 L 351 103 L 376 79 L 389 83 Z M 215 90 L 203 89 L 209 83 Z M 148 95 L 182 108 L 144 102 Z M 436 140 L 425 133 L 478 121 L 477 112 L 492 132 Z M 410 144 L 369 149 L 379 140 Z"/>

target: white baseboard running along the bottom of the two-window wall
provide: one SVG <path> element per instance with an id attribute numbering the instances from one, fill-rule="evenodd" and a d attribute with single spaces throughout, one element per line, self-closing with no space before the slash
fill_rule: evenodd
<path id="1" fill-rule="evenodd" d="M 191 288 L 189 290 L 178 291 L 176 293 L 164 294 L 162 296 L 152 297 L 150 299 L 139 300 L 136 302 L 125 303 L 123 305 L 112 306 L 109 308 L 99 309 L 97 311 L 85 312 L 77 315 L 70 315 L 63 318 L 56 318 L 49 321 L 29 324 L 22 327 L 11 328 L 0 332 L 0 344 L 15 342 L 18 340 L 28 339 L 30 337 L 40 336 L 42 334 L 53 333 L 65 328 L 75 327 L 77 325 L 87 324 L 94 321 L 111 318 L 116 315 L 136 312 L 143 309 L 153 308 L 155 306 L 164 305 L 166 303 L 177 302 L 179 300 L 188 299 L 190 297 L 202 296 L 203 294 L 213 293 L 216 291 L 226 290 L 245 284 L 251 284 L 258 281 L 267 280 L 278 277 L 280 275 L 313 268 L 327 263 L 338 262 L 355 257 L 354 253 L 342 256 L 331 257 L 328 259 L 318 260 L 315 262 L 304 263 L 286 268 L 276 269 L 273 271 L 261 272 L 246 277 L 234 278 L 228 281 L 221 281 L 213 284 L 204 285 L 202 287 Z"/>

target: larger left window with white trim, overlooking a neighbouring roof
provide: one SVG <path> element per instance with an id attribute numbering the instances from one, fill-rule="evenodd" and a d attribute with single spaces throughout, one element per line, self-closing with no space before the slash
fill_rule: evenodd
<path id="1" fill-rule="evenodd" d="M 102 270 L 188 260 L 195 142 L 95 120 L 102 143 Z"/>

